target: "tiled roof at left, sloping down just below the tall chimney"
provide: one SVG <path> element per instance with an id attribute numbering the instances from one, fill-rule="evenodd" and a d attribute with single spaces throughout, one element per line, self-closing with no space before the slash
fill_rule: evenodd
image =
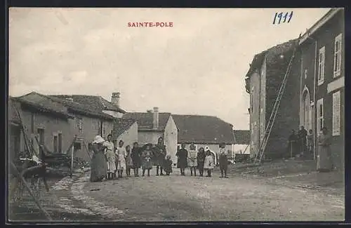
<path id="1" fill-rule="evenodd" d="M 113 105 L 110 101 L 105 100 L 101 96 L 94 96 L 94 95 L 51 95 L 55 98 L 67 99 L 72 98 L 73 102 L 77 102 L 82 105 L 87 105 L 91 107 L 91 109 L 99 110 L 110 110 L 116 111 L 121 113 L 126 113 L 123 109 Z"/>

